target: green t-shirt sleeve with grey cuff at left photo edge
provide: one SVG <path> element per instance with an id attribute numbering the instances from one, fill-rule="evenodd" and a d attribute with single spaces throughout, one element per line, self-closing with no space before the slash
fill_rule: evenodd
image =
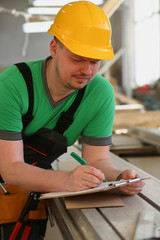
<path id="1" fill-rule="evenodd" d="M 16 66 L 10 66 L 0 74 L 1 139 L 13 140 L 18 136 L 20 138 L 20 133 L 22 131 L 22 114 L 24 111 L 23 103 L 25 102 L 25 88 L 23 77 L 18 72 L 18 69 L 16 69 Z"/>

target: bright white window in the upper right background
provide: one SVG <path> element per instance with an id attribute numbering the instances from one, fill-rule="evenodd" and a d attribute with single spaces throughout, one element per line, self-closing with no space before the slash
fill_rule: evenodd
<path id="1" fill-rule="evenodd" d="M 160 78 L 160 1 L 134 0 L 135 82 L 154 84 Z"/>

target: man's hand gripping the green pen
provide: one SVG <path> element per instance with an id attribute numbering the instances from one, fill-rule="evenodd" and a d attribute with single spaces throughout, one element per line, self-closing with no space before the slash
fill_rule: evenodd
<path id="1" fill-rule="evenodd" d="M 91 166 L 80 165 L 72 172 L 69 172 L 67 180 L 68 191 L 82 191 L 93 187 L 98 187 L 104 180 L 104 174 Z"/>

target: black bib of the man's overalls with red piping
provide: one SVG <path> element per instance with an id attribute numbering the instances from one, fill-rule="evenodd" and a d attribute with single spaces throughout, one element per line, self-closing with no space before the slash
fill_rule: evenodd
<path id="1" fill-rule="evenodd" d="M 25 162 L 44 168 L 51 168 L 51 163 L 67 152 L 67 139 L 58 132 L 41 128 L 35 134 L 23 137 Z"/>

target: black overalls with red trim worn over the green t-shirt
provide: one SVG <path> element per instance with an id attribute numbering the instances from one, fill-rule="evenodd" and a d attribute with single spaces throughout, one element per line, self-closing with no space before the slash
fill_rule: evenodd
<path id="1" fill-rule="evenodd" d="M 29 95 L 29 107 L 27 113 L 22 116 L 23 121 L 23 131 L 28 126 L 28 124 L 33 119 L 33 105 L 34 105 L 34 93 L 33 93 L 33 82 L 32 73 L 30 68 L 25 63 L 16 64 L 19 71 L 23 75 L 26 82 L 28 95 Z M 85 92 L 85 87 L 79 90 L 76 99 L 66 112 L 62 112 L 55 128 L 47 129 L 41 128 L 36 133 L 30 136 L 26 136 L 23 133 L 23 143 L 24 143 L 24 160 L 25 162 L 38 166 L 44 169 L 50 169 L 51 163 L 57 159 L 60 155 L 67 152 L 67 139 L 63 136 L 66 129 L 72 124 L 74 118 L 74 113 L 76 112 Z M 37 201 L 33 200 L 37 198 Z M 40 193 L 30 193 L 30 198 L 28 202 L 32 207 L 37 208 L 38 197 Z M 36 197 L 35 197 L 36 196 Z M 28 205 L 29 205 L 28 204 Z M 27 204 L 26 204 L 27 205 Z M 29 223 L 23 221 L 24 215 L 29 210 L 28 205 L 24 207 L 17 223 L 3 224 L 3 238 L 4 240 L 41 240 L 45 235 L 47 220 L 34 220 Z M 17 232 L 18 226 L 18 232 Z M 26 232 L 26 235 L 25 235 Z M 27 233 L 28 232 L 28 233 Z M 27 235 L 28 234 L 28 235 Z M 24 236 L 25 235 L 25 236 Z M 12 237 L 11 237 L 12 236 Z M 22 237 L 24 236 L 24 238 Z M 26 237 L 27 236 L 27 237 Z M 2 240 L 0 238 L 0 240 Z"/>

